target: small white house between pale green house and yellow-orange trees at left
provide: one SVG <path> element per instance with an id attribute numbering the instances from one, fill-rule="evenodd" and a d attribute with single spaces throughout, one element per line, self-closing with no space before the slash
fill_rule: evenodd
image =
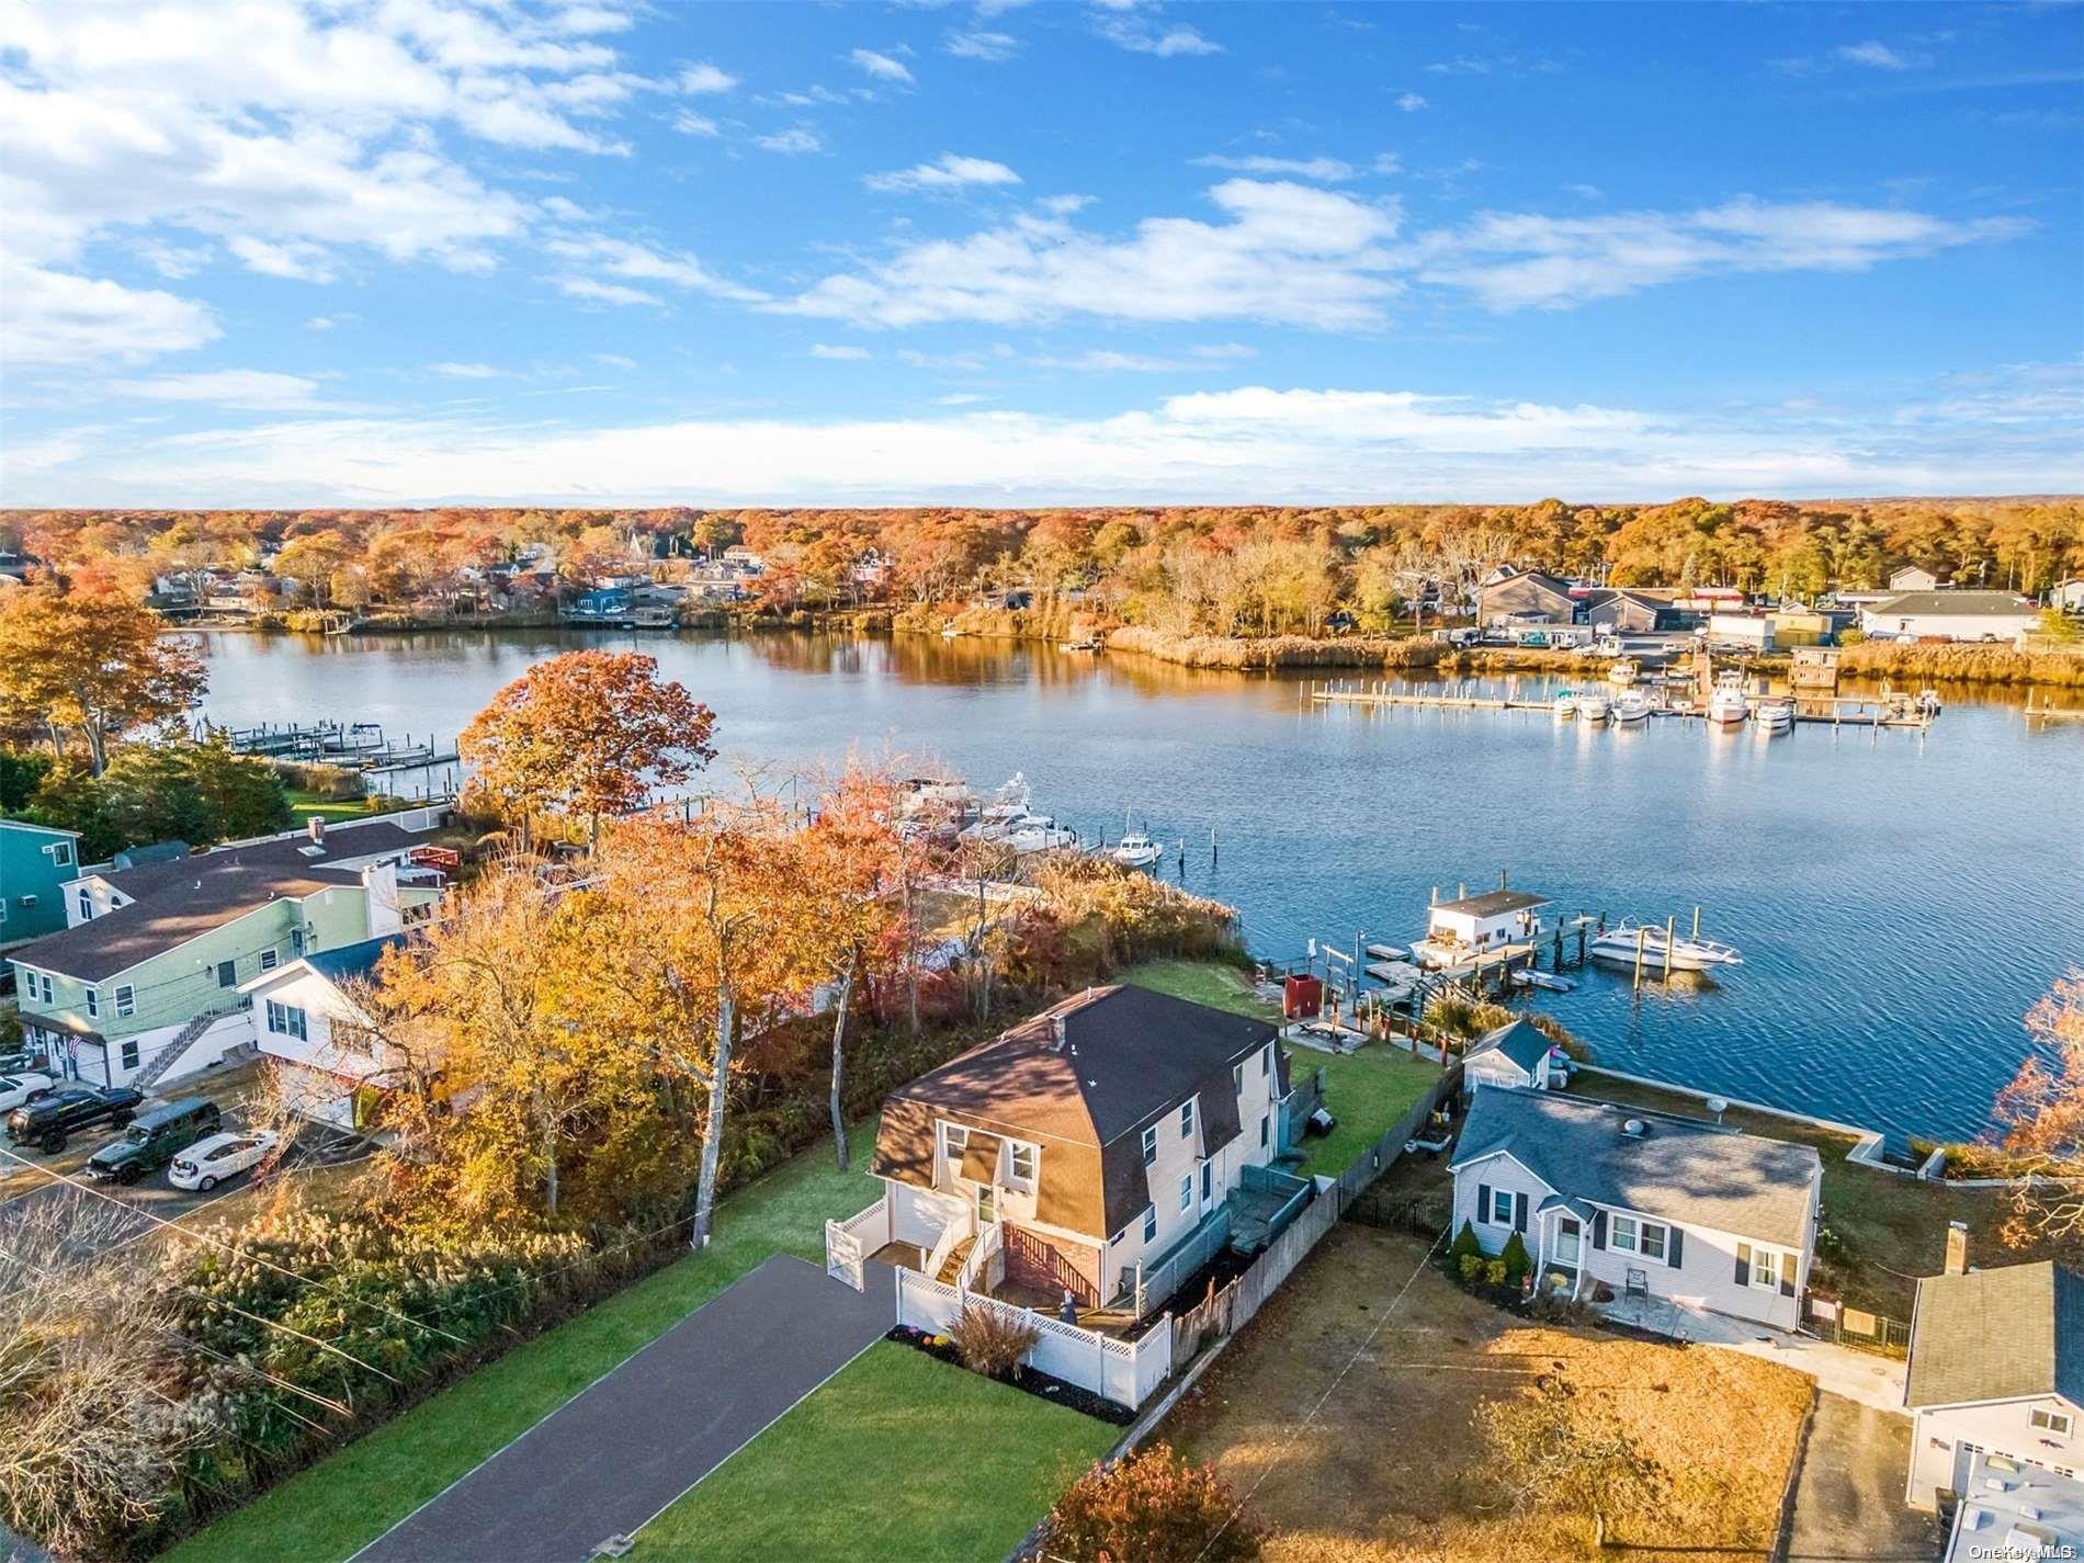
<path id="1" fill-rule="evenodd" d="M 246 982 L 254 1044 L 275 1059 L 283 1098 L 304 1117 L 340 1130 L 367 1127 L 402 1063 L 369 1032 L 369 1015 L 348 984 L 369 977 L 404 934 L 383 934 L 333 950 L 313 950 Z"/>

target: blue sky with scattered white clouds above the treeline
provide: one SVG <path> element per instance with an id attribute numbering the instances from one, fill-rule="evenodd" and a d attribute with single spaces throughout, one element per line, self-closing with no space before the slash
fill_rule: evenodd
<path id="1" fill-rule="evenodd" d="M 6 504 L 2084 488 L 2074 6 L 0 17 Z"/>

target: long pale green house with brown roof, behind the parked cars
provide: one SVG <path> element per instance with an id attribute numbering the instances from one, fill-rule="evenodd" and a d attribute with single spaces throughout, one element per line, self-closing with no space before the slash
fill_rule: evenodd
<path id="1" fill-rule="evenodd" d="M 140 1088 L 252 1044 L 244 982 L 394 934 L 440 900 L 442 875 L 411 863 L 440 817 L 315 819 L 308 834 L 81 873 L 65 929 L 8 950 L 29 1044 L 69 1080 Z"/>

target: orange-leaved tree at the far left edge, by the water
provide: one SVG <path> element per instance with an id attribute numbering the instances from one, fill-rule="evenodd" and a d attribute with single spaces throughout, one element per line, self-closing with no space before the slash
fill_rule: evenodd
<path id="1" fill-rule="evenodd" d="M 65 756 L 79 734 L 100 775 L 125 734 L 173 721 L 202 698 L 202 659 L 160 617 L 115 592 L 52 584 L 0 598 L 0 727 L 33 723 Z"/>

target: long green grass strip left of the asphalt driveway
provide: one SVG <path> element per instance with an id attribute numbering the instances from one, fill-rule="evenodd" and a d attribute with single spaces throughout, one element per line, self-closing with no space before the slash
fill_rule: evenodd
<path id="1" fill-rule="evenodd" d="M 873 1144 L 871 1119 L 854 1127 L 850 1173 L 834 1167 L 832 1146 L 802 1152 L 725 1200 L 706 1252 L 517 1346 L 163 1557 L 340 1563 L 769 1255 L 823 1263 L 825 1219 L 852 1215 L 879 1192 L 859 1171 Z"/>

